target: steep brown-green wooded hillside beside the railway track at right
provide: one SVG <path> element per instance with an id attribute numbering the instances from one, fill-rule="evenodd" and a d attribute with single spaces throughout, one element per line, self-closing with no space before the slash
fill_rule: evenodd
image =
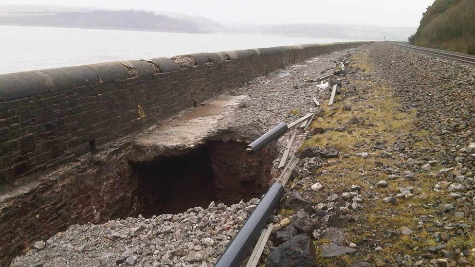
<path id="1" fill-rule="evenodd" d="M 436 0 L 409 42 L 475 54 L 475 0 Z"/>

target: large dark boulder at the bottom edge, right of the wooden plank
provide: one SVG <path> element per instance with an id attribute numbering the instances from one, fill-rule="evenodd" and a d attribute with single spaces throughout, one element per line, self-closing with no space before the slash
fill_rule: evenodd
<path id="1" fill-rule="evenodd" d="M 314 267 L 315 247 L 308 234 L 299 234 L 272 250 L 266 267 Z"/>

